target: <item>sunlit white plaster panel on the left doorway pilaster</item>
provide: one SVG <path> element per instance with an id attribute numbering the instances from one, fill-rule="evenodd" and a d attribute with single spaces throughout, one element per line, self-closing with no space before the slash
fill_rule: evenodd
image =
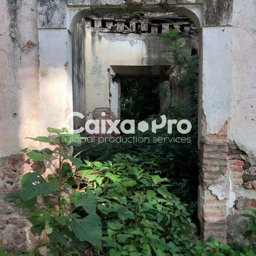
<path id="1" fill-rule="evenodd" d="M 69 87 L 66 29 L 39 29 L 39 133 L 47 127 L 65 127 L 65 118 L 73 110 Z"/>

